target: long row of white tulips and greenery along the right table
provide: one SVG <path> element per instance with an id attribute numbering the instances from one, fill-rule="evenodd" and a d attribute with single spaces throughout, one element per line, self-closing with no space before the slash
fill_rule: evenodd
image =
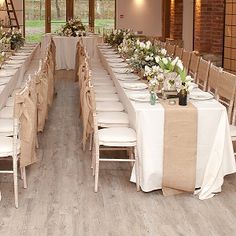
<path id="1" fill-rule="evenodd" d="M 167 51 L 148 40 L 140 40 L 127 29 L 114 30 L 104 35 L 104 41 L 116 47 L 123 58 L 149 81 L 150 91 L 162 84 L 164 89 L 178 92 L 192 90 L 192 78 L 187 75 L 179 57 L 172 58 Z"/>

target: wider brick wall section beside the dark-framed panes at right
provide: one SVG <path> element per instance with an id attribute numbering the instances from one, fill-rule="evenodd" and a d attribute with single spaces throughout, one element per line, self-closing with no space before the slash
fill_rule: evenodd
<path id="1" fill-rule="evenodd" d="M 224 0 L 196 0 L 194 49 L 222 55 Z"/>

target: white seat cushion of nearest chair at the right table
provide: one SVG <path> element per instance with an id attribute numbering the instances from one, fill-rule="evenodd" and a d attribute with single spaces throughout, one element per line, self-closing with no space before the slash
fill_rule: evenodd
<path id="1" fill-rule="evenodd" d="M 99 145 L 105 146 L 134 146 L 136 132 L 127 127 L 113 127 L 98 130 Z"/>

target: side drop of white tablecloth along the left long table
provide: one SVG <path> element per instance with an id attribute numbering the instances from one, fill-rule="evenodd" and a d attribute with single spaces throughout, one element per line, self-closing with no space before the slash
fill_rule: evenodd
<path id="1" fill-rule="evenodd" d="M 35 47 L 33 52 L 26 58 L 26 60 L 22 64 L 22 66 L 17 69 L 16 73 L 13 76 L 11 76 L 11 79 L 9 80 L 9 82 L 7 84 L 1 86 L 0 109 L 2 109 L 4 107 L 8 97 L 12 94 L 13 90 L 20 87 L 20 85 L 24 79 L 24 75 L 25 75 L 26 71 L 31 68 L 30 65 L 32 64 L 33 57 L 35 56 L 35 54 L 37 55 L 37 53 L 40 53 L 39 50 L 40 50 L 40 46 L 38 45 Z M 36 64 L 38 65 L 38 63 L 36 63 Z"/>

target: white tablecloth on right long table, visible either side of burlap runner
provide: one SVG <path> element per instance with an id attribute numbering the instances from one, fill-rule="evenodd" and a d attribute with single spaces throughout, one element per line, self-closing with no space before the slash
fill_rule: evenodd
<path id="1" fill-rule="evenodd" d="M 100 58 L 109 71 L 122 103 L 129 114 L 132 128 L 137 132 L 140 160 L 140 184 L 145 192 L 162 187 L 164 108 L 160 103 L 138 103 L 128 98 L 130 93 L 121 87 L 105 57 Z M 201 187 L 200 199 L 221 191 L 223 178 L 236 172 L 235 158 L 227 112 L 216 100 L 192 101 L 198 110 L 196 187 Z M 132 173 L 131 181 L 135 182 Z"/>

